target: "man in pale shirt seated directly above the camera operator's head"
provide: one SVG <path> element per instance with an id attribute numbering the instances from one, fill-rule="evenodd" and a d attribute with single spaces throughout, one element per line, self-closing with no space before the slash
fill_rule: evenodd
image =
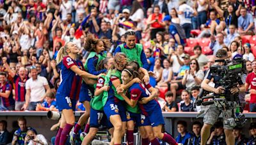
<path id="1" fill-rule="evenodd" d="M 210 48 L 213 51 L 213 55 L 216 55 L 216 52 L 218 52 L 218 50 L 220 50 L 223 46 L 225 46 L 223 33 L 221 32 L 218 33 L 216 38 L 217 38 L 217 41 L 211 41 L 211 43 L 209 44 Z"/>

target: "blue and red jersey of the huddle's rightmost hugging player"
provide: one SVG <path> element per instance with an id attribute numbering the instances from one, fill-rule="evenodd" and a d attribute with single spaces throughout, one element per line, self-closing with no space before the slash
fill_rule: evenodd
<path id="1" fill-rule="evenodd" d="M 129 92 L 131 94 L 132 100 L 140 100 L 143 97 L 149 97 L 150 92 L 148 89 L 152 87 L 149 83 L 148 85 L 144 85 L 141 83 L 134 83 L 130 88 Z M 148 116 L 148 114 L 152 113 L 155 106 L 159 105 L 156 100 L 150 100 L 147 104 L 138 104 L 138 106 L 141 109 L 141 113 L 145 116 Z"/>

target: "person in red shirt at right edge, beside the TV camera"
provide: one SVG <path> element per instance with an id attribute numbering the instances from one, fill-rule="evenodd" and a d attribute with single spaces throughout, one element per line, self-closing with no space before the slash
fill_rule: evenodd
<path id="1" fill-rule="evenodd" d="M 251 86 L 250 93 L 250 112 L 256 112 L 256 60 L 252 62 L 252 72 L 246 77 L 245 88 L 248 90 Z"/>

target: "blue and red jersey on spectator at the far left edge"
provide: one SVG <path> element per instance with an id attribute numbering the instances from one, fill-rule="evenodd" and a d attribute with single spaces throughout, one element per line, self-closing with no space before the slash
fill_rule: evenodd
<path id="1" fill-rule="evenodd" d="M 10 83 L 5 83 L 3 86 L 0 83 L 0 92 L 5 93 L 6 91 L 10 91 L 10 95 L 8 98 L 4 98 L 3 96 L 0 95 L 2 99 L 2 103 L 4 107 L 9 107 L 13 106 L 15 104 L 15 100 L 13 100 L 13 95 L 12 95 L 12 85 Z"/>

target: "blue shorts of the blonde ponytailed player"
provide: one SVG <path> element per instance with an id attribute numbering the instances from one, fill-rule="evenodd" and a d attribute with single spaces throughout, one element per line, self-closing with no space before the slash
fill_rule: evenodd
<path id="1" fill-rule="evenodd" d="M 67 95 L 56 93 L 56 103 L 59 111 L 63 109 L 72 109 L 76 111 L 76 99 L 70 99 Z"/>

